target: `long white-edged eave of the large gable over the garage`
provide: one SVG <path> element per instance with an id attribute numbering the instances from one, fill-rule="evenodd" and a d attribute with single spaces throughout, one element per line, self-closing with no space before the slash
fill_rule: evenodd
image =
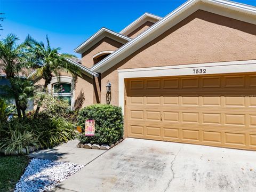
<path id="1" fill-rule="evenodd" d="M 204 10 L 256 25 L 256 7 L 254 6 L 226 0 L 189 0 L 166 15 L 161 21 L 155 23 L 148 30 L 97 63 L 97 65 L 94 65 L 91 70 L 103 73 L 197 10 Z"/>

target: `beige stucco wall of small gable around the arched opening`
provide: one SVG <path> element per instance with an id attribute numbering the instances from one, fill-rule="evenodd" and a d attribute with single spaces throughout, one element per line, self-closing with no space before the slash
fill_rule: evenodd
<path id="1" fill-rule="evenodd" d="M 116 51 L 122 45 L 122 43 L 110 39 L 109 37 L 104 37 L 101 41 L 82 54 L 82 65 L 91 68 L 94 65 L 93 55 L 101 51 Z"/>

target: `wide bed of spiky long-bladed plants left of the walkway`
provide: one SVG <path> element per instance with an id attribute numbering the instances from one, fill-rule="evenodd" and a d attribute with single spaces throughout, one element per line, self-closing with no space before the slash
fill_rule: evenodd
<path id="1" fill-rule="evenodd" d="M 63 117 L 51 117 L 39 113 L 38 118 L 28 116 L 26 119 L 13 118 L 10 122 L 0 123 L 0 149 L 7 154 L 18 151 L 23 154 L 23 148 L 51 148 L 62 142 L 74 139 L 76 132 L 71 122 Z"/>

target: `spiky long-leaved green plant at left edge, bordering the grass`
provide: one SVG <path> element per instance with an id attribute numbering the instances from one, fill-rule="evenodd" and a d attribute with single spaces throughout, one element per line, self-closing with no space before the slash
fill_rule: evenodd
<path id="1" fill-rule="evenodd" d="M 38 138 L 30 130 L 29 124 L 23 124 L 18 120 L 12 120 L 10 123 L 0 125 L 0 149 L 4 149 L 6 154 L 17 151 L 18 154 L 29 152 L 29 147 L 38 149 Z M 23 149 L 26 151 L 23 151 Z"/>

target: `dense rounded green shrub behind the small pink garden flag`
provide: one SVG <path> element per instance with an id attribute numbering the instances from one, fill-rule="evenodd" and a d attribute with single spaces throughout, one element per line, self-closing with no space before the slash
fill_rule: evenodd
<path id="1" fill-rule="evenodd" d="M 85 127 L 87 119 L 95 120 L 95 135 L 85 136 L 79 134 L 78 139 L 82 143 L 97 143 L 99 145 L 111 145 L 123 137 L 122 108 L 112 105 L 92 105 L 79 111 L 78 125 Z"/>

